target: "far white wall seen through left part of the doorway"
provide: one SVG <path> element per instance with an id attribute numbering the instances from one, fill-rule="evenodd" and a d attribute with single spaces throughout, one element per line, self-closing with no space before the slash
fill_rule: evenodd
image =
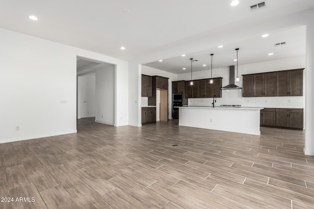
<path id="1" fill-rule="evenodd" d="M 96 116 L 95 73 L 78 76 L 78 119 Z"/>

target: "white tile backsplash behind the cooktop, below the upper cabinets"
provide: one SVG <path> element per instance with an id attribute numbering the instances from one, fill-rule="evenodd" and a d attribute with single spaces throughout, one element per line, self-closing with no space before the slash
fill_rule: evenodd
<path id="1" fill-rule="evenodd" d="M 211 106 L 213 98 L 189 98 L 188 105 Z M 303 96 L 242 97 L 242 90 L 223 90 L 215 106 L 241 105 L 243 107 L 304 108 Z"/>

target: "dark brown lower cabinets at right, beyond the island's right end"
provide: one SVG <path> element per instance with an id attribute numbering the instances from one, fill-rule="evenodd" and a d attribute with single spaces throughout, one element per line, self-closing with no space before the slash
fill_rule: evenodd
<path id="1" fill-rule="evenodd" d="M 264 108 L 261 126 L 303 129 L 303 109 Z"/>

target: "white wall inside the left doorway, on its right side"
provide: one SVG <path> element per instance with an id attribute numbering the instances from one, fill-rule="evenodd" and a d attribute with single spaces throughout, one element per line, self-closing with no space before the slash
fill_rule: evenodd
<path id="1" fill-rule="evenodd" d="M 95 121 L 108 125 L 114 125 L 114 69 L 109 66 L 96 70 Z"/>

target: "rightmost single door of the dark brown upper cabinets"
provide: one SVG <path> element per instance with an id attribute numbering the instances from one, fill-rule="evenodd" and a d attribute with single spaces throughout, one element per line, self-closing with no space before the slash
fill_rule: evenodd
<path id="1" fill-rule="evenodd" d="M 303 95 L 303 70 L 291 70 L 289 74 L 289 96 Z"/>

